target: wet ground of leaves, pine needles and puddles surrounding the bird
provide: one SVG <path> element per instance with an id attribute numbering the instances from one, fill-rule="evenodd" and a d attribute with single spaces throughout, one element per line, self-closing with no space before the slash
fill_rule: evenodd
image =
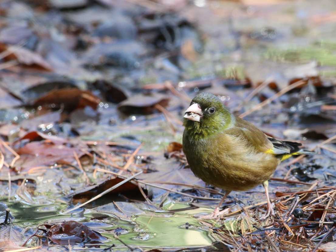
<path id="1" fill-rule="evenodd" d="M 1 2 L 0 250 L 333 251 L 335 8 Z M 258 186 L 197 218 L 223 195 L 181 149 L 202 91 L 318 152 L 279 165 L 275 217 Z"/>

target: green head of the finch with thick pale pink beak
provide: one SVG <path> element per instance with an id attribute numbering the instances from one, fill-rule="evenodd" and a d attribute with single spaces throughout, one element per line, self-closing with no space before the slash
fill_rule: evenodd
<path id="1" fill-rule="evenodd" d="M 196 95 L 184 112 L 184 118 L 187 129 L 208 133 L 227 128 L 233 120 L 220 99 L 211 93 Z"/>

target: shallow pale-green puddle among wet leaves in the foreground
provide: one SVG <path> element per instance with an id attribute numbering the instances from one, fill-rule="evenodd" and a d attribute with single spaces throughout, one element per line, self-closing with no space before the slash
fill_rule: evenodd
<path id="1" fill-rule="evenodd" d="M 18 202 L 7 203 L 15 217 L 13 224 L 36 227 L 43 223 L 68 220 L 79 221 L 102 236 L 108 238 L 104 244 L 145 248 L 200 248 L 210 246 L 215 239 L 208 233 L 208 227 L 194 217 L 195 214 L 210 212 L 208 208 L 171 210 L 188 208 L 189 205 L 170 203 L 162 212 L 145 210 L 143 214 L 130 218 L 119 218 L 113 212 L 102 213 L 95 210 L 78 209 L 72 215 L 57 215 L 65 205 L 29 206 Z M 115 239 L 115 235 L 122 241 Z M 33 244 L 31 244 L 33 245 Z"/>

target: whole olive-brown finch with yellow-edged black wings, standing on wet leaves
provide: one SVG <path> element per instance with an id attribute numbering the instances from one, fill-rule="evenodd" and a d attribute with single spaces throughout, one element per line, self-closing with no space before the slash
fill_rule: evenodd
<path id="1" fill-rule="evenodd" d="M 183 152 L 193 173 L 208 184 L 225 190 L 215 210 L 204 219 L 227 214 L 220 206 L 231 191 L 247 191 L 259 184 L 265 188 L 266 219 L 274 215 L 268 179 L 278 164 L 300 154 L 300 143 L 280 141 L 266 136 L 253 124 L 234 116 L 211 93 L 200 93 L 184 113 Z"/>

